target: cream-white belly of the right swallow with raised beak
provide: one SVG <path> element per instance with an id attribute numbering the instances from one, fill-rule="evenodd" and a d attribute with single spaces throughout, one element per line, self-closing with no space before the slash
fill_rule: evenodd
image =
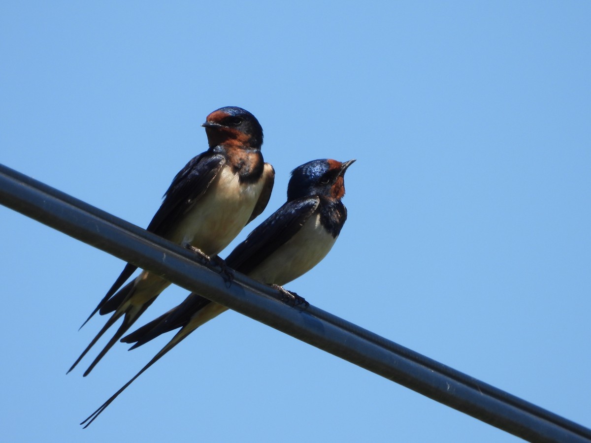
<path id="1" fill-rule="evenodd" d="M 335 241 L 320 224 L 320 214 L 315 213 L 295 236 L 248 275 L 262 283 L 285 285 L 314 268 Z"/>

